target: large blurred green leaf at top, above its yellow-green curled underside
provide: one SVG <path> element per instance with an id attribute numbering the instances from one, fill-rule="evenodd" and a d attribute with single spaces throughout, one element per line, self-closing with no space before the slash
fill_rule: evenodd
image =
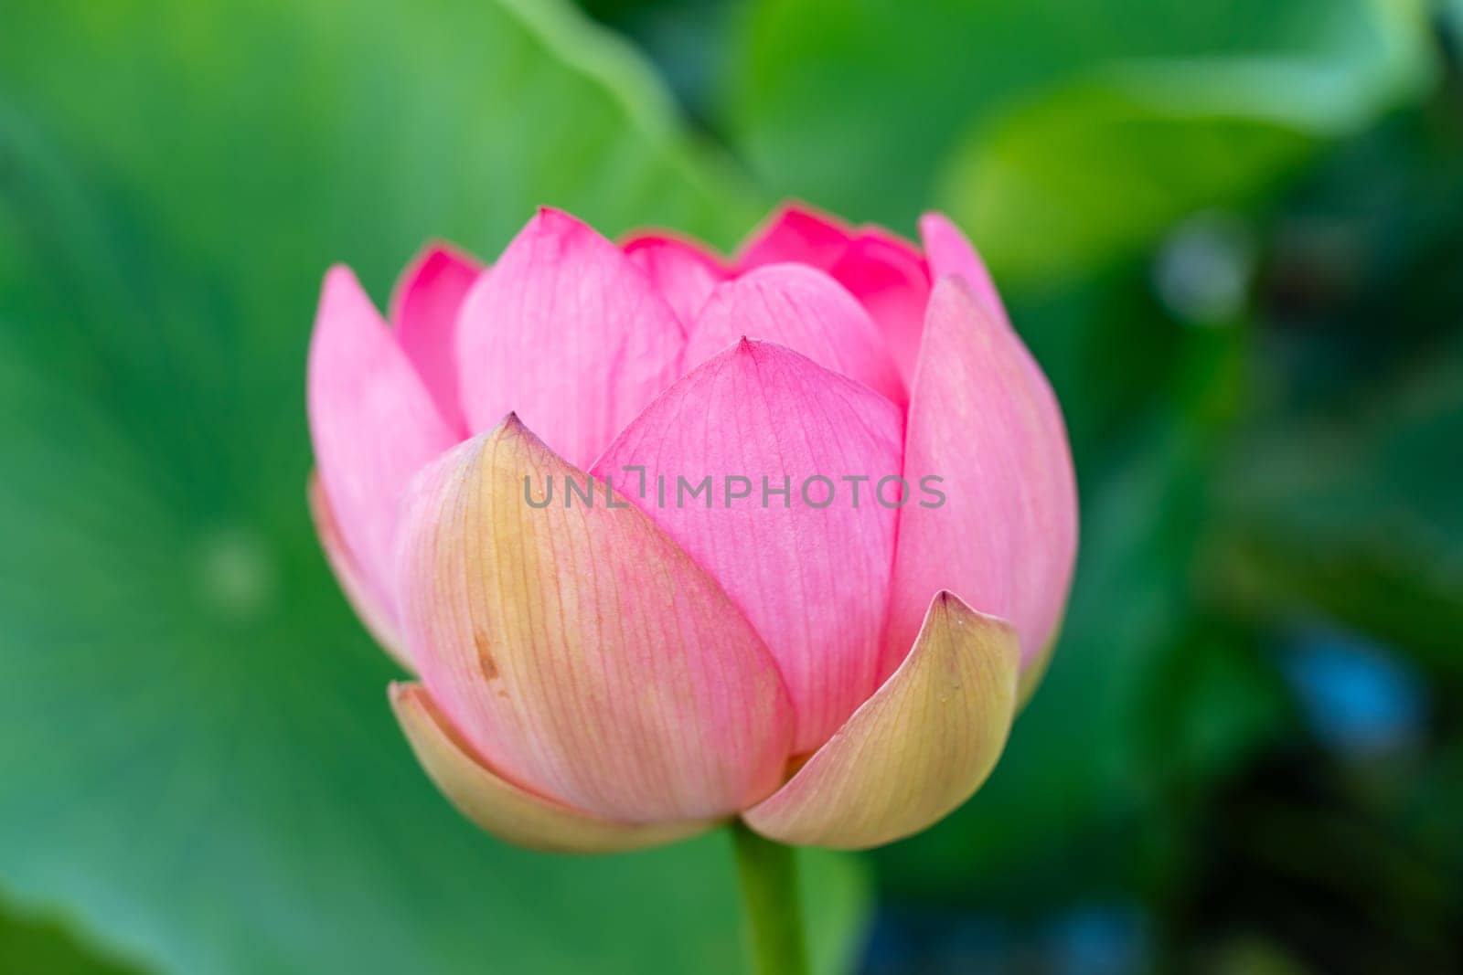
<path id="1" fill-rule="evenodd" d="M 969 199 L 973 190 L 948 189 L 961 177 L 947 159 L 957 152 L 969 164 L 980 152 L 980 133 L 1012 107 L 1039 114 L 1001 127 L 1005 159 L 1015 140 L 1026 145 L 1023 162 L 1065 152 L 1037 162 L 1043 172 L 1078 171 L 1068 183 L 1081 181 L 1090 168 L 1110 175 L 1121 162 L 1112 155 L 1113 136 L 1087 132 L 1086 143 L 1064 142 L 1053 132 L 1062 117 L 1071 121 L 1078 108 L 1072 99 L 1096 95 L 1058 94 L 1065 108 L 1020 108 L 1103 66 L 1184 66 L 1148 80 L 1160 86 L 1151 101 L 1184 95 L 1188 107 L 1181 114 L 1189 117 L 1220 114 L 1229 88 L 1239 83 L 1246 98 L 1254 99 L 1255 88 L 1267 89 L 1277 105 L 1305 98 L 1308 111 L 1339 123 L 1364 118 L 1429 75 L 1425 29 L 1416 0 L 939 0 L 922 4 L 917 15 L 895 0 L 761 0 L 734 42 L 729 134 L 777 193 L 909 227 L 936 181 L 957 203 Z M 1298 77 L 1305 91 L 1292 89 Z M 1173 91 L 1175 82 L 1188 91 Z M 1135 111 L 1131 101 L 1099 108 L 1124 123 Z M 1036 132 L 1023 134 L 1027 126 Z M 1151 133 L 1150 149 L 1159 136 Z M 1225 137 L 1216 133 L 1216 140 Z M 1208 167 L 1210 178 L 1217 165 Z M 1094 191 L 1097 175 L 1087 177 Z M 1141 172 L 1122 189 L 1137 178 Z M 1122 197 L 1112 205 L 1121 206 Z M 1031 237 L 1042 240 L 1040 232 Z M 985 235 L 979 243 L 1009 246 Z"/>

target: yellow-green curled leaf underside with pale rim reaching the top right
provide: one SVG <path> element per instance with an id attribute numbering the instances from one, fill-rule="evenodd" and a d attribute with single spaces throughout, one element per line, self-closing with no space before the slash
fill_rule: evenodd
<path id="1" fill-rule="evenodd" d="M 1058 85 L 976 126 L 939 197 L 1018 281 L 1088 272 L 1191 212 L 1245 206 L 1421 80 L 1415 12 L 1350 16 L 1374 34 L 1336 50 L 1124 61 Z"/>

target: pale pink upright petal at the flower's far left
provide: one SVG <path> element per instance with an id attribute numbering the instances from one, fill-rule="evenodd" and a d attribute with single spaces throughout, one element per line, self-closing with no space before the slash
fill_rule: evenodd
<path id="1" fill-rule="evenodd" d="M 325 276 L 310 339 L 310 437 L 339 535 L 372 605 L 391 612 L 398 501 L 458 437 L 348 268 Z"/>

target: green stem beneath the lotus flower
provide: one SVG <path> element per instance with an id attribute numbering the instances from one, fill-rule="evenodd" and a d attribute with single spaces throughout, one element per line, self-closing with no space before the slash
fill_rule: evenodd
<path id="1" fill-rule="evenodd" d="M 808 975 L 793 848 L 758 836 L 740 820 L 732 824 L 732 846 L 742 877 L 742 914 L 752 972 Z"/>

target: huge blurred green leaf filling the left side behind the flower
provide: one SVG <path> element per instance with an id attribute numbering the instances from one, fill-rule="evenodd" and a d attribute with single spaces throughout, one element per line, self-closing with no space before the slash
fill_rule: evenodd
<path id="1" fill-rule="evenodd" d="M 415 767 L 307 523 L 303 377 L 331 262 L 382 298 L 538 203 L 726 243 L 752 202 L 559 7 L 7 4 L 6 895 L 168 972 L 736 971 L 723 838 L 528 854 Z M 859 865 L 808 889 L 832 971 Z"/>

